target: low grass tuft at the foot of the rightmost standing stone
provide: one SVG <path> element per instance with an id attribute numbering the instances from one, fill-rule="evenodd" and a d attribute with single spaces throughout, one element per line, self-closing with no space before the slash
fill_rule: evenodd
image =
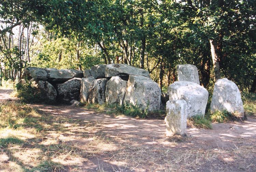
<path id="1" fill-rule="evenodd" d="M 228 121 L 241 121 L 241 117 L 236 113 L 230 113 L 226 110 L 224 111 L 215 111 L 212 115 L 210 115 L 210 119 L 212 122 L 228 122 Z"/>

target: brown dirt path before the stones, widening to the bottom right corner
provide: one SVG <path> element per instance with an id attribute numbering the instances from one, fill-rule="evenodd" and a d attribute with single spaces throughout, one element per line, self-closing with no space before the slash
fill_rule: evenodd
<path id="1" fill-rule="evenodd" d="M 0 90 L 0 99 L 8 94 Z M 111 140 L 83 162 L 82 171 L 256 171 L 255 117 L 214 123 L 212 130 L 187 128 L 188 138 L 180 140 L 165 136 L 163 120 L 112 117 L 83 107 L 30 106 L 56 118 L 97 123 L 95 132 Z M 90 144 L 81 137 L 69 141 L 83 148 Z"/>

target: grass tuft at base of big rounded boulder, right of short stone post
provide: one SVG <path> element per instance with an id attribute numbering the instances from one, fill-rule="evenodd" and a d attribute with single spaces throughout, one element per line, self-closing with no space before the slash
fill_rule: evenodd
<path id="1" fill-rule="evenodd" d="M 192 118 L 187 119 L 187 126 L 212 129 L 212 123 L 210 120 L 201 115 L 193 116 Z"/>

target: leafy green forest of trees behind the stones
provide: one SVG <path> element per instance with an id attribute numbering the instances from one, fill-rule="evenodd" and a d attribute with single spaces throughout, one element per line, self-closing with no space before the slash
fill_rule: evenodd
<path id="1" fill-rule="evenodd" d="M 125 63 L 166 91 L 177 64 L 213 89 L 226 77 L 256 90 L 255 0 L 2 0 L 0 84 L 26 66 L 89 69 Z"/>

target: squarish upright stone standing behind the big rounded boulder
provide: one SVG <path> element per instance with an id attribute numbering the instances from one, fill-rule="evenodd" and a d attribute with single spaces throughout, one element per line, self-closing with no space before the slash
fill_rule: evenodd
<path id="1" fill-rule="evenodd" d="M 189 81 L 200 84 L 197 67 L 191 64 L 177 65 L 178 81 Z"/>

